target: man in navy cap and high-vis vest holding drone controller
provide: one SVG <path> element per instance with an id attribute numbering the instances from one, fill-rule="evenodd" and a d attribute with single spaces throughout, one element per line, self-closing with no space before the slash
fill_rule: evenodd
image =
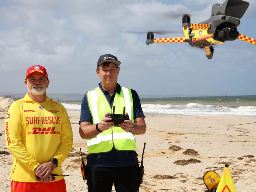
<path id="1" fill-rule="evenodd" d="M 82 100 L 79 133 L 86 139 L 88 192 L 138 191 L 138 158 L 135 135 L 146 132 L 144 114 L 138 94 L 120 86 L 117 77 L 121 62 L 116 56 L 99 57 L 96 74 L 99 86 L 88 91 Z M 108 113 L 129 115 L 114 126 Z"/>

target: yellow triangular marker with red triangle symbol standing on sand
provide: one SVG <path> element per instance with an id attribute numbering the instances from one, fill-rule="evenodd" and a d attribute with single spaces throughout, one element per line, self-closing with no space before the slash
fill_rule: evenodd
<path id="1" fill-rule="evenodd" d="M 216 192 L 236 192 L 235 185 L 227 164 L 225 165 L 222 175 L 220 177 L 220 183 Z"/>

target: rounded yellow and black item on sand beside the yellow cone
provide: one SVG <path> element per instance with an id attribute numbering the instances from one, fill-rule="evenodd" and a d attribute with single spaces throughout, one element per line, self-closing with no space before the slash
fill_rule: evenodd
<path id="1" fill-rule="evenodd" d="M 220 182 L 220 175 L 218 175 L 218 173 L 215 171 L 207 171 L 204 173 L 203 181 L 208 189 L 205 192 L 216 192 Z"/>

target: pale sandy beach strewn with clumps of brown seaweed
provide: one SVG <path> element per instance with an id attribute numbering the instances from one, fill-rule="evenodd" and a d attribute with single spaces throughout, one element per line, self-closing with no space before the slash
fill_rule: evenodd
<path id="1" fill-rule="evenodd" d="M 73 129 L 74 144 L 62 164 L 67 191 L 86 191 L 80 173 L 80 151 L 87 153 L 78 133 L 79 110 L 67 110 Z M 0 110 L 0 185 L 10 191 L 9 171 L 12 158 L 4 137 L 7 109 Z M 145 175 L 142 192 L 203 192 L 202 176 L 208 170 L 222 174 L 229 164 L 237 192 L 256 192 L 256 118 L 242 116 L 163 116 L 146 114 L 146 134 L 136 136 L 138 158 L 144 142 Z M 187 150 L 190 149 L 190 150 Z M 86 155 L 84 155 L 86 160 Z M 114 190 L 114 187 L 112 188 Z"/>

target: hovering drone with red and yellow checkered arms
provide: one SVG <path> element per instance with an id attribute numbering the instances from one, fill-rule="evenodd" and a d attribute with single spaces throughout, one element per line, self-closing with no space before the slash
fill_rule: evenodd
<path id="1" fill-rule="evenodd" d="M 249 2 L 243 0 L 226 0 L 223 4 L 214 4 L 211 17 L 200 24 L 190 22 L 189 15 L 183 15 L 183 37 L 154 39 L 154 32 L 148 32 L 146 44 L 151 43 L 189 43 L 192 47 L 204 48 L 208 59 L 213 57 L 212 45 L 220 45 L 225 41 L 240 39 L 256 45 L 256 40 L 239 34 L 237 27 Z"/>

